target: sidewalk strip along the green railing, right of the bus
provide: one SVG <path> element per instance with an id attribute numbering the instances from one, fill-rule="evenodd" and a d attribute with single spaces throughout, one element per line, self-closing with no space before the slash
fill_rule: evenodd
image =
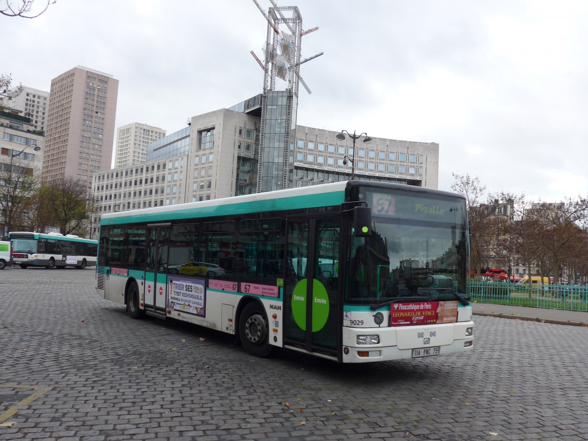
<path id="1" fill-rule="evenodd" d="M 472 310 L 474 315 L 556 323 L 557 325 L 588 326 L 588 312 L 581 311 L 492 305 L 491 303 L 472 303 Z"/>

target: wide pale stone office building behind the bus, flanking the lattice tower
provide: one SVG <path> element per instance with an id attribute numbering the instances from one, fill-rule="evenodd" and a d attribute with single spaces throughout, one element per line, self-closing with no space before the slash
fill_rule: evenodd
<path id="1" fill-rule="evenodd" d="M 92 192 L 98 215 L 255 193 L 259 100 L 246 102 L 193 116 L 186 128 L 149 145 L 145 163 L 95 173 Z M 289 186 L 347 181 L 352 176 L 350 161 L 343 163 L 347 157 L 353 159 L 356 179 L 437 188 L 439 144 L 359 139 L 353 152 L 352 139 L 336 135 L 297 126 L 290 144 Z M 98 222 L 93 225 L 96 229 Z"/>

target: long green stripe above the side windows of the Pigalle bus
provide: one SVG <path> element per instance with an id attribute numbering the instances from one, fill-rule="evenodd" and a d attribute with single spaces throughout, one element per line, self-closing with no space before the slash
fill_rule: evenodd
<path id="1" fill-rule="evenodd" d="M 282 210 L 296 210 L 302 208 L 340 205 L 345 202 L 345 192 L 336 191 L 317 195 L 290 196 L 289 198 L 266 199 L 243 203 L 226 203 L 223 205 L 209 205 L 192 207 L 177 211 L 162 211 L 156 213 L 133 213 L 128 216 L 102 218 L 101 225 L 119 225 L 133 222 L 162 222 L 165 220 L 208 218 L 210 216 L 227 216 L 245 213 L 272 212 Z M 169 209 L 169 207 L 168 207 Z"/>

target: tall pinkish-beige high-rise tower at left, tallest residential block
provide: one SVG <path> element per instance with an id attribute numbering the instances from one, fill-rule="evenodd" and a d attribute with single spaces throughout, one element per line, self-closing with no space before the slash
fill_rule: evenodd
<path id="1" fill-rule="evenodd" d="M 111 168 L 118 80 L 76 66 L 52 79 L 42 180 L 76 179 Z"/>

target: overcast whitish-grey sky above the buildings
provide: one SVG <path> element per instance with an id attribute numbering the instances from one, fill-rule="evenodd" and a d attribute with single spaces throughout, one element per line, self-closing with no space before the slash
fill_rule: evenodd
<path id="1" fill-rule="evenodd" d="M 17 0 L 9 0 L 16 2 Z M 42 0 L 35 0 L 39 4 Z M 269 0 L 258 0 L 267 11 Z M 0 0 L 0 5 L 6 0 Z M 298 124 L 440 145 L 452 173 L 487 191 L 588 195 L 588 2 L 278 0 L 298 6 Z M 252 0 L 58 0 L 0 15 L 0 72 L 49 91 L 86 66 L 119 80 L 116 127 L 183 128 L 262 91 L 266 21 Z"/>

